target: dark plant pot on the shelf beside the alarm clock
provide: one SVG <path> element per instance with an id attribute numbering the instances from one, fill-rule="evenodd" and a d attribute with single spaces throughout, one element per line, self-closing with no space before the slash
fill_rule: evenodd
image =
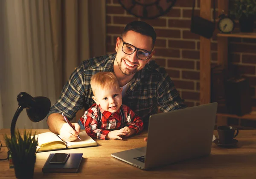
<path id="1" fill-rule="evenodd" d="M 242 15 L 239 19 L 240 31 L 241 32 L 253 32 L 254 29 L 254 16 L 247 17 Z"/>

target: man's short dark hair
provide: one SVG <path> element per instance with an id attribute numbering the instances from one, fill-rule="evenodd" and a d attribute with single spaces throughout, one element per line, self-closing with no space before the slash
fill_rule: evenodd
<path id="1" fill-rule="evenodd" d="M 130 30 L 132 30 L 134 32 L 138 32 L 142 35 L 147 35 L 147 36 L 151 37 L 153 47 L 154 47 L 154 43 L 156 42 L 157 34 L 151 25 L 149 25 L 148 23 L 146 23 L 144 21 L 140 21 L 140 20 L 132 21 L 125 26 L 125 29 L 121 34 L 121 37 L 125 36 L 126 33 Z"/>

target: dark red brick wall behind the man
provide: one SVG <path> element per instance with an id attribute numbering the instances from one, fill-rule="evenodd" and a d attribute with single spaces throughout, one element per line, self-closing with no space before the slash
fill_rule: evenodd
<path id="1" fill-rule="evenodd" d="M 121 34 L 125 25 L 133 20 L 141 19 L 126 12 L 118 0 L 106 2 L 107 52 L 111 53 L 115 52 L 116 38 Z M 200 13 L 199 2 L 200 0 L 196 0 L 196 15 Z M 190 32 L 192 5 L 193 0 L 177 0 L 175 6 L 165 16 L 144 20 L 153 26 L 157 33 L 154 48 L 156 54 L 153 59 L 160 66 L 165 67 L 189 107 L 199 104 L 200 87 L 200 40 L 198 35 Z M 215 6 L 218 7 L 217 4 Z M 216 39 L 214 35 L 211 47 L 213 64 L 217 61 Z M 251 95 L 256 106 L 256 40 L 230 39 L 230 61 L 239 67 L 241 74 L 250 79 Z"/>

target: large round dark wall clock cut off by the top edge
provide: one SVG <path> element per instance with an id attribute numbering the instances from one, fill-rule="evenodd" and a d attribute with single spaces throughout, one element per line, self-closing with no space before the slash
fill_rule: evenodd
<path id="1" fill-rule="evenodd" d="M 130 14 L 142 19 L 154 19 L 167 14 L 176 0 L 119 0 Z"/>

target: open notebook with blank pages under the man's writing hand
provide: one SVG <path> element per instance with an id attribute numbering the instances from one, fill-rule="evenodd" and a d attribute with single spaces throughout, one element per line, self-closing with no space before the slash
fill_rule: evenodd
<path id="1" fill-rule="evenodd" d="M 80 147 L 92 147 L 97 146 L 97 142 L 94 141 L 90 136 L 87 135 L 85 131 L 80 132 L 80 139 L 75 141 L 63 141 L 55 133 L 47 132 L 36 135 L 38 138 L 38 148 L 37 152 L 44 152 L 50 150 L 63 150 L 63 149 L 72 149 Z"/>

